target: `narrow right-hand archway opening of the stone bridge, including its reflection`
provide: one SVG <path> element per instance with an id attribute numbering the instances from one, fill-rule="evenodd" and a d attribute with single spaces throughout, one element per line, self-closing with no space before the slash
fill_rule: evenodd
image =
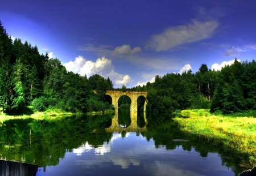
<path id="1" fill-rule="evenodd" d="M 137 125 L 138 127 L 144 127 L 146 125 L 146 122 L 144 120 L 144 105 L 146 102 L 146 97 L 139 96 L 137 98 Z"/>

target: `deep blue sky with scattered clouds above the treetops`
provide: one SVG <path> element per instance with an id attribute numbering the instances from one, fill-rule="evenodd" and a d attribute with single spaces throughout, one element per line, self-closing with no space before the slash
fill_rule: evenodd
<path id="1" fill-rule="evenodd" d="M 12 37 L 37 45 L 68 71 L 100 74 L 114 87 L 201 64 L 256 59 L 256 1 L 4 1 Z"/>

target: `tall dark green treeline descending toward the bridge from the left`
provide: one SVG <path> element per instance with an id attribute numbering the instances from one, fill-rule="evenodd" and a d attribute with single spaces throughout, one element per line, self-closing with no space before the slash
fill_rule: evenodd
<path id="1" fill-rule="evenodd" d="M 5 113 L 26 113 L 61 109 L 72 112 L 112 108 L 105 91 L 110 79 L 67 72 L 58 59 L 39 54 L 36 46 L 11 40 L 0 22 L 0 109 Z"/>

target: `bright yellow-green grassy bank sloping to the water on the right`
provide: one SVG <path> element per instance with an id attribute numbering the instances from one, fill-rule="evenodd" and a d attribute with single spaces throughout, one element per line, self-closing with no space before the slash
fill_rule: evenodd
<path id="1" fill-rule="evenodd" d="M 250 113 L 247 113 L 250 114 Z M 182 131 L 204 138 L 220 140 L 224 147 L 246 154 L 251 165 L 256 165 L 256 118 L 248 115 L 210 114 L 209 110 L 183 110 L 183 117 L 174 120 Z M 186 117 L 186 118 L 184 118 Z"/>

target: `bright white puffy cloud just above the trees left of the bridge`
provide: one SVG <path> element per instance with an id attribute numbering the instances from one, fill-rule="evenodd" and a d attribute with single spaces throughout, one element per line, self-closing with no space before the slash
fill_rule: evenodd
<path id="1" fill-rule="evenodd" d="M 112 61 L 105 57 L 98 58 L 96 62 L 93 62 L 86 61 L 84 57 L 79 55 L 75 58 L 75 61 L 69 61 L 63 65 L 67 68 L 67 71 L 73 71 L 82 76 L 86 75 L 90 77 L 94 74 L 99 74 L 104 78 L 109 77 L 116 86 L 123 84 L 126 85 L 131 82 L 129 75 L 123 75 L 115 72 Z"/>

